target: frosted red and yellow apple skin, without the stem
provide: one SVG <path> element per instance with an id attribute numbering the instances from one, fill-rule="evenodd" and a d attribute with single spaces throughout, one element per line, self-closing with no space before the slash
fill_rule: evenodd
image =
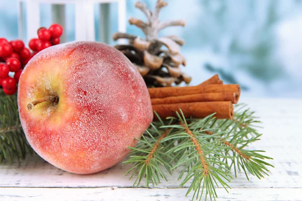
<path id="1" fill-rule="evenodd" d="M 18 86 L 18 108 L 31 147 L 68 172 L 107 169 L 135 146 L 153 120 L 146 85 L 118 50 L 97 42 L 55 45 L 36 54 Z M 59 102 L 38 98 L 58 96 Z"/>

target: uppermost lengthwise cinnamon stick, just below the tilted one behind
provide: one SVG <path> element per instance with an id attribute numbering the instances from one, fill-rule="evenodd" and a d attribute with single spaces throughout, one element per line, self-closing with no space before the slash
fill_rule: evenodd
<path id="1" fill-rule="evenodd" d="M 161 98 L 169 96 L 189 95 L 195 93 L 233 92 L 237 99 L 240 96 L 239 84 L 208 84 L 197 86 L 171 86 L 148 88 L 150 98 Z"/>

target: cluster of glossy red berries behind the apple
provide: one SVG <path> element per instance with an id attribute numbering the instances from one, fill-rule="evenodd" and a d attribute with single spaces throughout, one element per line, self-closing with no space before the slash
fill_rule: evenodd
<path id="1" fill-rule="evenodd" d="M 17 91 L 17 83 L 21 72 L 28 61 L 39 51 L 60 43 L 63 28 L 59 24 L 53 24 L 48 29 L 38 29 L 38 38 L 29 41 L 29 48 L 25 47 L 22 40 L 8 41 L 0 38 L 0 87 L 8 95 Z M 9 76 L 14 72 L 14 76 Z"/>

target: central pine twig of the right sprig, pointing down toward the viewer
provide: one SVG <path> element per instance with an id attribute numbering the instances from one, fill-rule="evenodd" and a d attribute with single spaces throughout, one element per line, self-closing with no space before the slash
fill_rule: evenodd
<path id="1" fill-rule="evenodd" d="M 200 197 L 200 200 L 203 192 L 205 192 L 206 197 L 215 198 L 217 197 L 215 186 L 218 187 L 219 183 L 226 191 L 228 191 L 226 188 L 230 188 L 230 186 L 226 182 L 231 182 L 232 178 L 229 175 L 229 170 L 225 168 L 226 164 L 220 160 L 226 156 L 220 155 L 220 153 L 217 152 L 222 148 L 219 147 L 219 141 L 222 139 L 216 138 L 216 140 L 208 142 L 209 138 L 214 139 L 218 134 L 215 134 L 215 136 L 204 136 L 203 130 L 190 130 L 189 127 L 191 125 L 188 125 L 182 111 L 180 112 L 182 114 L 182 117 L 178 115 L 181 121 L 180 126 L 185 132 L 182 132 L 177 137 L 179 138 L 182 135 L 183 140 L 180 144 L 170 149 L 168 153 L 184 151 L 182 151 L 180 158 L 177 159 L 176 164 L 172 169 L 177 167 L 183 168 L 178 179 L 181 179 L 187 170 L 188 173 L 180 184 L 181 187 L 192 179 L 186 195 L 193 190 L 193 199 L 194 197 L 196 197 L 196 199 Z M 200 122 L 200 126 L 205 128 L 206 125 L 213 120 L 212 117 L 213 115 L 204 118 Z M 169 128 L 169 126 L 166 126 L 165 128 Z M 170 139 L 173 140 L 174 135 L 171 135 Z M 219 166 L 220 169 L 215 166 Z"/>

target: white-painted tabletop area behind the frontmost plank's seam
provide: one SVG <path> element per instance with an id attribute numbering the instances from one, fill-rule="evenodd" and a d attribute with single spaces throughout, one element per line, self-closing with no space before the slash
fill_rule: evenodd
<path id="1" fill-rule="evenodd" d="M 275 168 L 270 176 L 259 180 L 250 176 L 250 181 L 240 173 L 231 183 L 233 188 L 302 188 L 302 149 L 300 123 L 302 118 L 301 100 L 285 99 L 246 99 L 250 108 L 263 121 L 264 135 L 256 142 L 253 149 L 266 150 L 274 158 L 270 161 Z M 75 175 L 64 172 L 48 164 L 38 156 L 29 157 L 20 164 L 0 165 L 0 187 L 131 187 L 134 180 L 123 176 L 128 166 L 122 163 L 93 175 Z M 168 182 L 162 180 L 158 187 L 178 187 L 177 176 L 167 173 Z M 142 182 L 144 183 L 144 182 Z M 143 186 L 143 185 L 142 185 Z M 188 185 L 186 185 L 187 187 Z M 230 190 L 231 193 L 233 189 Z M 257 200 L 257 199 L 256 199 Z"/>

